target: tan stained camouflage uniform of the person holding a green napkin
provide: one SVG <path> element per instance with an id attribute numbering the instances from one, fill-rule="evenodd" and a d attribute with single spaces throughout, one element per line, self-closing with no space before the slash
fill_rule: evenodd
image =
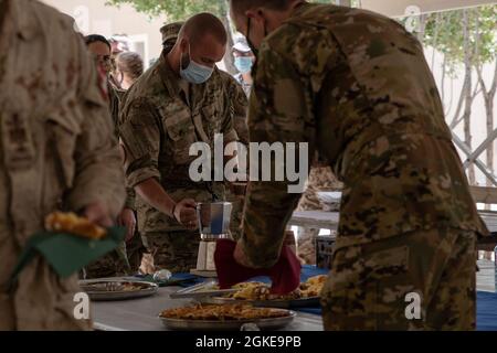
<path id="1" fill-rule="evenodd" d="M 123 206 L 105 85 L 72 19 L 39 1 L 0 3 L 0 330 L 88 330 L 73 314 L 76 275 L 59 278 L 38 256 L 14 291 L 7 284 L 47 214 Z"/>

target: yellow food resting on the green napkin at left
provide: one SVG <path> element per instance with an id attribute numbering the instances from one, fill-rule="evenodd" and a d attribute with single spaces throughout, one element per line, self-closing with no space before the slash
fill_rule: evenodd
<path id="1" fill-rule="evenodd" d="M 75 213 L 53 212 L 45 217 L 49 232 L 71 233 L 89 239 L 102 239 L 107 231 Z"/>

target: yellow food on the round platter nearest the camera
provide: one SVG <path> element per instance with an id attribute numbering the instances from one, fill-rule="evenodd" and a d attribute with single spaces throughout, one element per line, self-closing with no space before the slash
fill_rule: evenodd
<path id="1" fill-rule="evenodd" d="M 283 309 L 253 308 L 248 304 L 197 304 L 168 309 L 160 313 L 161 318 L 204 321 L 241 321 L 288 317 Z"/>

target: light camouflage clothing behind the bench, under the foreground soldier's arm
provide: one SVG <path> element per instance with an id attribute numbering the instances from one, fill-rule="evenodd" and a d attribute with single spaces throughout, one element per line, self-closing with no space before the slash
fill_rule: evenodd
<path id="1" fill-rule="evenodd" d="M 313 167 L 307 180 L 306 191 L 298 203 L 298 211 L 321 211 L 322 206 L 317 196 L 320 189 L 341 190 L 342 184 L 331 172 L 329 167 Z M 319 228 L 298 227 L 298 256 L 308 265 L 316 264 L 316 237 Z"/>

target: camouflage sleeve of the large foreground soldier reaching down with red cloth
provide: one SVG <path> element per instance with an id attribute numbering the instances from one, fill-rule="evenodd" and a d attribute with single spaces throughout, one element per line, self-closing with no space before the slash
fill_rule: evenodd
<path id="1" fill-rule="evenodd" d="M 251 142 L 279 141 L 284 146 L 285 142 L 308 142 L 308 78 L 302 78 L 288 58 L 265 44 L 257 60 L 248 115 Z M 313 156 L 310 147 L 309 153 Z M 251 165 L 255 162 L 251 161 Z M 275 160 L 272 153 L 273 175 L 275 167 L 281 168 L 283 162 Z M 288 193 L 288 181 L 248 184 L 241 246 L 253 267 L 271 267 L 278 260 L 286 224 L 300 199 L 299 193 Z"/>

